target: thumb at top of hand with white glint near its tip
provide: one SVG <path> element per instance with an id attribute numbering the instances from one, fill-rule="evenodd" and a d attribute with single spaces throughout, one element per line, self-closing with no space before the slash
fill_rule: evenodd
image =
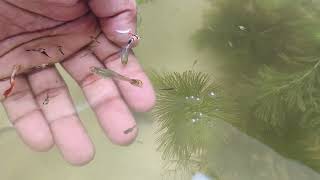
<path id="1" fill-rule="evenodd" d="M 107 38 L 120 46 L 125 45 L 129 34 L 117 31 L 136 32 L 137 9 L 135 0 L 90 0 L 89 6 L 100 17 L 100 24 Z"/>

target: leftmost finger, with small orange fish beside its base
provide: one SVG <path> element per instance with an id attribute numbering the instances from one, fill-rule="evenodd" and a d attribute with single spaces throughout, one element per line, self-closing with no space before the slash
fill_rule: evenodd
<path id="1" fill-rule="evenodd" d="M 9 119 L 25 144 L 37 151 L 47 151 L 53 145 L 50 128 L 27 80 L 20 76 L 15 81 L 12 94 L 3 101 Z M 0 92 L 9 86 L 9 80 L 0 81 Z"/>

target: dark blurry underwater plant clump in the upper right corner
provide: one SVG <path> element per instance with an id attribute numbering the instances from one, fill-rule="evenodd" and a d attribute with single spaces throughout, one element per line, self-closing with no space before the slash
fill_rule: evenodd
<path id="1" fill-rule="evenodd" d="M 212 0 L 204 28 L 194 36 L 236 65 L 319 57 L 319 3 L 311 0 Z M 242 66 L 243 67 L 243 66 Z"/>

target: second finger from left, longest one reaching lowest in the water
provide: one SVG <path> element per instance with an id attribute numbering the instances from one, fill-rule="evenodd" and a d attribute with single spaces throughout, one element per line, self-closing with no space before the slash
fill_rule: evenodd
<path id="1" fill-rule="evenodd" d="M 28 79 L 63 157 L 74 165 L 89 162 L 94 156 L 93 145 L 58 71 L 44 69 L 30 74 Z"/>

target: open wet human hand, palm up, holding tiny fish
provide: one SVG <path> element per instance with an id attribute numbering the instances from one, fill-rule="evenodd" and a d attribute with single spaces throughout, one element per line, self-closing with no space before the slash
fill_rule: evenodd
<path id="1" fill-rule="evenodd" d="M 13 67 L 22 67 L 13 91 L 2 103 L 18 134 L 32 149 L 47 151 L 56 144 L 74 165 L 86 164 L 94 156 L 92 142 L 57 69 L 25 71 L 55 62 L 82 88 L 113 143 L 128 145 L 135 139 L 137 128 L 126 132 L 135 127 L 129 109 L 144 112 L 155 103 L 150 81 L 134 55 L 129 55 L 127 65 L 119 59 L 129 35 L 117 30 L 134 33 L 135 6 L 135 0 L 0 1 L 1 94 L 10 86 Z M 87 45 L 91 48 L 85 48 Z M 90 73 L 92 66 L 140 79 L 143 86 L 102 79 Z"/>

